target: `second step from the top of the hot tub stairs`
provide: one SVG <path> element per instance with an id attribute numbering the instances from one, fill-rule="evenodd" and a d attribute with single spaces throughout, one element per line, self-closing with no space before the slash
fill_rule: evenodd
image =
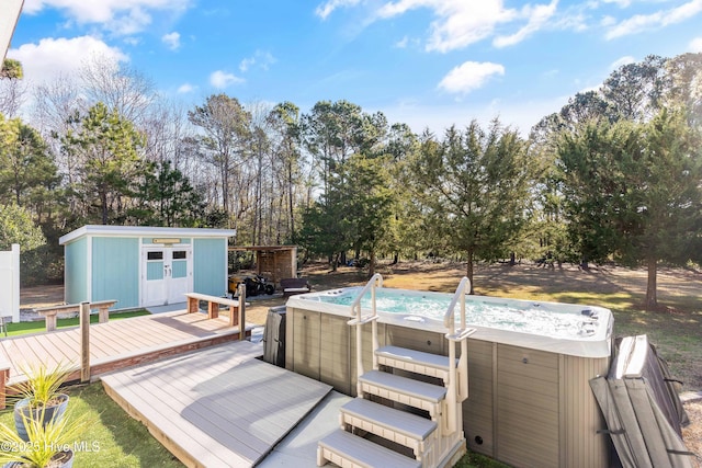
<path id="1" fill-rule="evenodd" d="M 429 411 L 432 419 L 441 413 L 439 406 L 446 397 L 445 387 L 380 370 L 363 374 L 359 384 L 365 393 Z"/>

